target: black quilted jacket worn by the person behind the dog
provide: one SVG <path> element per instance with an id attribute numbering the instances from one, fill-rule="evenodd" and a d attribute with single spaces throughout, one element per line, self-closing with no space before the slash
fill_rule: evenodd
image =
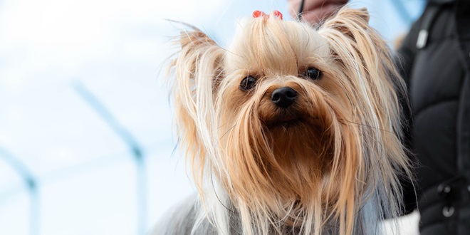
<path id="1" fill-rule="evenodd" d="M 428 1 L 398 52 L 419 162 L 407 209 L 418 207 L 423 235 L 470 234 L 470 1 Z"/>

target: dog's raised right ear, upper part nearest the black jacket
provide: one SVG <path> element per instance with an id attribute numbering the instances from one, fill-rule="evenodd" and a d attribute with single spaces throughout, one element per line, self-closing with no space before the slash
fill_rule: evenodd
<path id="1" fill-rule="evenodd" d="M 346 75 L 357 75 L 357 79 L 365 79 L 370 85 L 402 86 L 398 85 L 402 80 L 392 60 L 392 51 L 369 26 L 369 19 L 367 9 L 344 6 L 332 19 L 325 21 L 318 33 L 328 41 L 331 56 Z"/>

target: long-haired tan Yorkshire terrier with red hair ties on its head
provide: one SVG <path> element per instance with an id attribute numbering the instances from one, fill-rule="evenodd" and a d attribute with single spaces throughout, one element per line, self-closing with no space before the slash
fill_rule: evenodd
<path id="1" fill-rule="evenodd" d="M 399 216 L 406 88 L 368 20 L 255 11 L 227 49 L 181 34 L 169 81 L 199 196 L 157 234 L 377 234 Z"/>

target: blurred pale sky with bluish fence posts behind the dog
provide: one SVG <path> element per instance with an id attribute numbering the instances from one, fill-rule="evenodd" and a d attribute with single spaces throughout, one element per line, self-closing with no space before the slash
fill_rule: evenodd
<path id="1" fill-rule="evenodd" d="M 352 4 L 392 45 L 425 2 Z M 0 234 L 145 234 L 195 192 L 162 83 L 182 26 L 166 19 L 227 46 L 275 9 L 290 19 L 286 0 L 0 0 Z"/>

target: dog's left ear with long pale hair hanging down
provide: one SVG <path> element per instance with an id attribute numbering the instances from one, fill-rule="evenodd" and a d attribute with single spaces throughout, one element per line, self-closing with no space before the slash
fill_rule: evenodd
<path id="1" fill-rule="evenodd" d="M 189 26 L 176 39 L 180 50 L 169 63 L 169 83 L 174 102 L 178 144 L 193 168 L 198 188 L 206 156 L 214 155 L 214 98 L 223 76 L 224 49 L 198 28 Z"/>

